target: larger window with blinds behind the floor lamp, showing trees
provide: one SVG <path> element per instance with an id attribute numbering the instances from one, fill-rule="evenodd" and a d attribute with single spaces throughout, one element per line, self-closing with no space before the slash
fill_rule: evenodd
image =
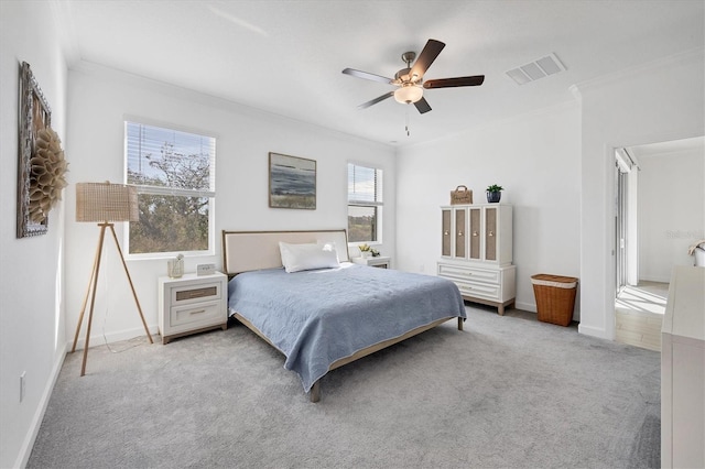
<path id="1" fill-rule="evenodd" d="M 124 123 L 124 134 L 126 179 L 138 187 L 140 208 L 128 253 L 209 252 L 215 138 L 135 122 Z"/>

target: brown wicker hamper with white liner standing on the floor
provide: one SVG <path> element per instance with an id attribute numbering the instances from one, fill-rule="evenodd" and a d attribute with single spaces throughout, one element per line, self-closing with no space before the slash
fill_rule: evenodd
<path id="1" fill-rule="evenodd" d="M 539 320 L 568 326 L 573 320 L 577 279 L 550 274 L 531 275 Z"/>

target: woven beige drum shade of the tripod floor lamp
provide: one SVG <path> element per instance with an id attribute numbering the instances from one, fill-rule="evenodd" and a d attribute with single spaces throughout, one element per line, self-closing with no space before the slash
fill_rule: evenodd
<path id="1" fill-rule="evenodd" d="M 76 221 L 139 221 L 137 187 L 124 184 L 76 184 Z"/>

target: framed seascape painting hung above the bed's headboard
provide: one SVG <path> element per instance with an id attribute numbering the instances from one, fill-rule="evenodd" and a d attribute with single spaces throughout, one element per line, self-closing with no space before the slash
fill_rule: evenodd
<path id="1" fill-rule="evenodd" d="M 269 206 L 316 209 L 316 162 L 269 154 Z"/>

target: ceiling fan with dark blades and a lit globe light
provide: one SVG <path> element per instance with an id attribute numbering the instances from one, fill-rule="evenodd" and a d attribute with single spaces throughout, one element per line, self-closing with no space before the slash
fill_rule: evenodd
<path id="1" fill-rule="evenodd" d="M 343 73 L 346 75 L 394 85 L 398 87 L 393 91 L 389 91 L 380 97 L 377 97 L 358 106 L 358 108 L 369 108 L 370 106 L 393 96 L 398 102 L 406 105 L 413 102 L 419 112 L 424 113 L 431 110 L 431 106 L 429 106 L 429 102 L 423 97 L 424 89 L 479 86 L 482 84 L 482 81 L 485 81 L 485 75 L 456 78 L 438 78 L 424 81 L 424 74 L 426 73 L 431 64 L 433 64 L 433 61 L 435 61 L 438 54 L 441 54 L 443 47 L 445 47 L 445 44 L 441 41 L 429 40 L 429 42 L 426 42 L 426 45 L 423 47 L 423 51 L 421 51 L 421 54 L 419 54 L 419 58 L 416 58 L 416 54 L 414 52 L 404 52 L 401 55 L 401 59 L 406 63 L 406 68 L 402 68 L 401 70 L 397 72 L 394 74 L 394 78 L 387 78 L 380 75 L 370 74 L 368 72 L 356 70 L 354 68 L 344 69 Z M 416 62 L 412 66 L 411 63 L 414 62 L 414 58 L 416 58 Z"/>

